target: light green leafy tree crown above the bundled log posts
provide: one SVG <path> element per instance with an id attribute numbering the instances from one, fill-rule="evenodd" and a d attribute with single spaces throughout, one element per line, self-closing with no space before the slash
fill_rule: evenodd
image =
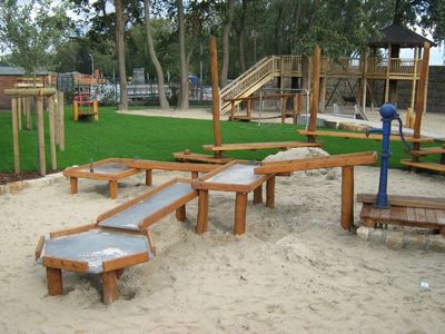
<path id="1" fill-rule="evenodd" d="M 36 70 L 53 65 L 53 53 L 70 31 L 66 8 L 38 0 L 20 6 L 4 0 L 0 7 L 0 47 L 11 52 L 11 61 L 36 76 Z"/>

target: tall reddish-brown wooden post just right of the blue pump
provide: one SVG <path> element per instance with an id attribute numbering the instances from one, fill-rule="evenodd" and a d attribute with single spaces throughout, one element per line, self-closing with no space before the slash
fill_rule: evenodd
<path id="1" fill-rule="evenodd" d="M 429 62 L 429 43 L 424 43 L 424 57 L 422 59 L 421 67 L 421 77 L 418 79 L 418 90 L 417 90 L 417 100 L 416 100 L 416 119 L 414 120 L 414 138 L 421 138 L 421 125 L 422 125 L 422 115 L 424 111 L 424 101 L 425 101 L 425 89 L 426 89 L 426 79 L 428 73 L 428 62 Z M 421 149 L 419 143 L 413 144 L 413 149 Z M 418 157 L 413 156 L 413 160 L 418 160 Z"/>

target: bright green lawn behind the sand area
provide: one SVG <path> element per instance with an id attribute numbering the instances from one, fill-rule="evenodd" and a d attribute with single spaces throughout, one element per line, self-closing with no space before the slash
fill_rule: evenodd
<path id="1" fill-rule="evenodd" d="M 87 164 L 109 157 L 174 160 L 172 153 L 188 148 L 205 153 L 204 144 L 212 144 L 212 122 L 198 119 L 146 117 L 116 114 L 113 107 L 99 110 L 99 121 L 78 121 L 71 118 L 71 107 L 65 109 L 66 150 L 58 151 L 58 167 Z M 36 120 L 34 120 L 36 122 Z M 24 118 L 23 118 L 24 124 Z M 46 158 L 50 166 L 48 116 L 46 124 Z M 301 126 L 280 124 L 221 122 L 222 141 L 285 141 L 305 140 L 296 134 Z M 20 131 L 20 164 L 23 171 L 38 169 L 37 130 Z M 11 114 L 0 112 L 0 173 L 13 171 Z M 329 154 L 379 150 L 380 144 L 366 139 L 324 137 L 323 148 Z M 277 150 L 233 151 L 227 156 L 239 159 L 263 159 Z M 392 143 L 392 168 L 400 168 L 399 160 L 407 158 L 403 145 Z M 429 157 L 433 161 L 435 158 Z"/>

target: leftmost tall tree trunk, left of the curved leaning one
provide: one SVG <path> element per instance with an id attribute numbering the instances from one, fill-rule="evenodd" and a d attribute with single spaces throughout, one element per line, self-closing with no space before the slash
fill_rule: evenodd
<path id="1" fill-rule="evenodd" d="M 123 45 L 123 33 L 125 33 L 125 20 L 123 20 L 123 9 L 121 0 L 115 0 L 116 8 L 116 47 L 118 53 L 118 68 L 119 68 L 119 85 L 120 85 L 120 102 L 119 110 L 128 109 L 128 98 L 127 98 L 127 76 L 126 76 L 126 63 L 125 63 L 125 45 Z"/>

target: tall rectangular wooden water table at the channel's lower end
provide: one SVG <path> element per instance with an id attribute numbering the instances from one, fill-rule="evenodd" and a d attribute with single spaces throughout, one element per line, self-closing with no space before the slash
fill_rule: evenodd
<path id="1" fill-rule="evenodd" d="M 275 206 L 275 174 L 255 175 L 257 164 L 234 160 L 205 176 L 194 180 L 191 186 L 198 190 L 198 223 L 197 234 L 207 232 L 208 228 L 208 191 L 234 191 L 235 223 L 234 234 L 241 235 L 246 232 L 247 196 L 254 191 L 254 204 L 263 202 L 263 184 L 266 183 L 266 206 Z"/>

